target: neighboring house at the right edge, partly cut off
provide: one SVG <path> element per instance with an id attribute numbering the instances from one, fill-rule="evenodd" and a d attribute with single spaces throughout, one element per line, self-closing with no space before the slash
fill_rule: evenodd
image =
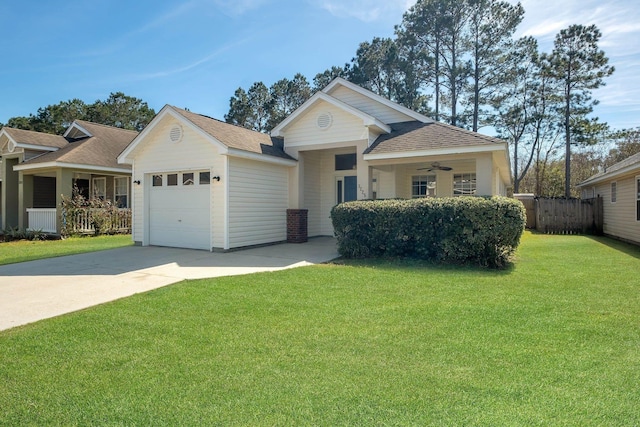
<path id="1" fill-rule="evenodd" d="M 603 198 L 606 235 L 640 244 L 640 153 L 578 185 L 583 199 Z"/>

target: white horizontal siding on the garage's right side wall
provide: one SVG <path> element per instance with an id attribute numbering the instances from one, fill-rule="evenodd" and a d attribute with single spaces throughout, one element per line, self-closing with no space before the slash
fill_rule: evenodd
<path id="1" fill-rule="evenodd" d="M 229 249 L 287 238 L 289 171 L 229 158 Z"/>

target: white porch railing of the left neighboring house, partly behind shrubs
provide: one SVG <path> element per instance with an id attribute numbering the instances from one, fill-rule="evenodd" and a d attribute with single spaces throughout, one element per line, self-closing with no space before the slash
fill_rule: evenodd
<path id="1" fill-rule="evenodd" d="M 70 215 L 63 215 L 64 232 L 68 234 L 94 234 L 96 232 L 96 218 L 100 217 L 100 230 L 102 233 L 130 233 L 131 209 L 117 209 L 101 212 L 101 209 L 74 209 Z M 42 231 L 45 233 L 58 233 L 58 211 L 50 209 L 27 209 L 29 226 L 28 230 Z M 100 214 L 100 215 L 98 215 Z"/>

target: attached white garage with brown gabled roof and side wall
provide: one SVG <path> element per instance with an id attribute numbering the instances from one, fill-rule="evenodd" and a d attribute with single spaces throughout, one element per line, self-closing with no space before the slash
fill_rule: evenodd
<path id="1" fill-rule="evenodd" d="M 132 165 L 136 244 L 226 251 L 286 240 L 281 141 L 165 106 L 118 157 Z"/>

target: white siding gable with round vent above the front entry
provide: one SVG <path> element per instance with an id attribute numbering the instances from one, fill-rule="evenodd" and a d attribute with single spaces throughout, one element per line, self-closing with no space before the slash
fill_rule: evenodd
<path id="1" fill-rule="evenodd" d="M 317 126 L 318 115 L 330 113 L 333 121 L 328 129 Z M 319 102 L 293 123 L 285 137 L 285 147 L 342 143 L 345 141 L 369 140 L 369 131 L 362 119 L 335 107 L 328 102 Z"/>

